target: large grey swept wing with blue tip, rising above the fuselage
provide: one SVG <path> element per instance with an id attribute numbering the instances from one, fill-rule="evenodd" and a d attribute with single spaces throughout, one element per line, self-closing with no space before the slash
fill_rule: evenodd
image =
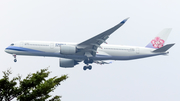
<path id="1" fill-rule="evenodd" d="M 84 54 L 87 57 L 92 57 L 96 55 L 97 48 L 100 47 L 100 45 L 105 42 L 109 36 L 116 31 L 118 28 L 120 28 L 129 18 L 124 19 L 116 26 L 106 30 L 105 32 L 102 32 L 80 44 L 77 45 L 77 48 L 79 50 L 79 54 Z"/>

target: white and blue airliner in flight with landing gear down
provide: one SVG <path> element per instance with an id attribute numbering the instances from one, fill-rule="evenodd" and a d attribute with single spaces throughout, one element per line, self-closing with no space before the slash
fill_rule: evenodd
<path id="1" fill-rule="evenodd" d="M 107 60 L 133 60 L 157 55 L 168 54 L 175 43 L 165 45 L 165 41 L 171 32 L 171 28 L 162 30 L 145 47 L 110 45 L 106 40 L 110 35 L 120 28 L 129 18 L 124 19 L 114 27 L 81 43 L 46 42 L 46 41 L 18 41 L 13 42 L 5 49 L 12 54 L 14 62 L 16 55 L 44 56 L 59 58 L 59 66 L 73 68 L 80 62 L 86 64 L 83 70 L 92 69 L 90 64 L 110 64 Z"/>

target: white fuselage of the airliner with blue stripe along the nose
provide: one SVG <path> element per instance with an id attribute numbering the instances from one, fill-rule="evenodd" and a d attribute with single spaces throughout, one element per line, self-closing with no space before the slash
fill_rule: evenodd
<path id="1" fill-rule="evenodd" d="M 16 55 L 29 55 L 29 56 L 48 56 L 67 59 L 84 60 L 84 55 L 63 55 L 60 54 L 61 45 L 76 46 L 76 43 L 65 42 L 43 42 L 43 41 L 20 41 L 11 44 L 5 49 L 7 53 Z M 163 53 L 152 52 L 155 49 L 124 46 L 124 45 L 108 45 L 102 44 L 97 49 L 96 56 L 92 57 L 93 60 L 131 60 L 156 55 L 164 55 Z"/>

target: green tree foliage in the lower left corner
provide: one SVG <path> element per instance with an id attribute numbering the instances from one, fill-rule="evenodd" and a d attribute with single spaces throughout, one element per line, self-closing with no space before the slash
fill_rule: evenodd
<path id="1" fill-rule="evenodd" d="M 41 69 L 29 74 L 23 80 L 21 76 L 10 80 L 11 71 L 3 71 L 4 76 L 0 79 L 0 101 L 10 101 L 14 98 L 19 101 L 46 101 L 48 99 L 49 101 L 60 101 L 61 96 L 52 97 L 49 93 L 54 91 L 68 76 L 55 76 L 48 79 L 50 73 L 48 69 Z"/>

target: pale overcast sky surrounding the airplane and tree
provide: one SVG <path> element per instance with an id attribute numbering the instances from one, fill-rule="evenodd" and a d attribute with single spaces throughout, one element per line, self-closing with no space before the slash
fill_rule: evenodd
<path id="1" fill-rule="evenodd" d="M 61 95 L 62 101 L 180 101 L 179 10 L 179 0 L 1 0 L 0 72 L 11 67 L 12 77 L 25 77 L 49 67 L 51 77 L 68 74 L 52 93 Z M 93 64 L 91 71 L 83 71 L 83 63 L 59 67 L 58 58 L 17 56 L 14 63 L 4 52 L 20 40 L 80 43 L 127 17 L 109 44 L 144 47 L 162 29 L 173 28 L 167 43 L 176 44 L 170 54 Z"/>

